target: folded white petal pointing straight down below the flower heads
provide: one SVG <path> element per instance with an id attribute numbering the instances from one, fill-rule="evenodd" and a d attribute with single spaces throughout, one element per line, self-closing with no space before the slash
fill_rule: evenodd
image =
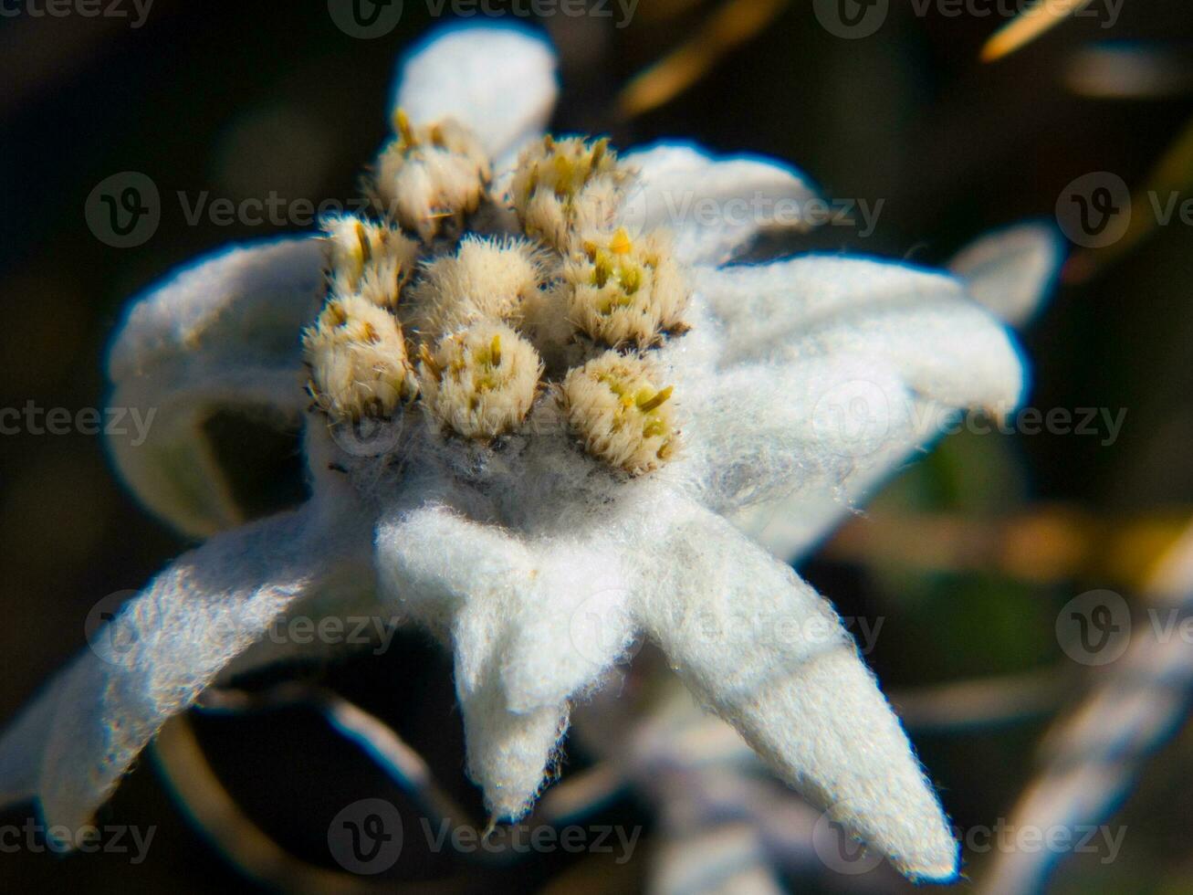
<path id="1" fill-rule="evenodd" d="M 521 816 L 567 728 L 567 699 L 630 640 L 616 554 L 524 542 L 437 506 L 377 533 L 391 598 L 450 638 L 469 770 L 496 817 Z"/>

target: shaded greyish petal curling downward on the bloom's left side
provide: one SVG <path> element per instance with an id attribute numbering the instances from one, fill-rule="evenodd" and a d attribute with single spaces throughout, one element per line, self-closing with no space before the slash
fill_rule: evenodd
<path id="1" fill-rule="evenodd" d="M 109 406 L 135 408 L 148 437 L 126 420 L 107 444 L 132 492 L 184 533 L 241 521 L 203 433 L 211 414 L 283 425 L 309 402 L 299 337 L 319 309 L 321 266 L 313 237 L 233 247 L 132 301 L 109 353 Z"/>

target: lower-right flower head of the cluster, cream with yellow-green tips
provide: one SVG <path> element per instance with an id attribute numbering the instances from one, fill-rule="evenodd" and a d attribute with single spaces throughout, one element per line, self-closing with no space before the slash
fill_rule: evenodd
<path id="1" fill-rule="evenodd" d="M 630 475 L 657 469 L 679 448 L 672 387 L 655 384 L 641 357 L 606 351 L 563 381 L 568 424 L 585 449 Z"/>

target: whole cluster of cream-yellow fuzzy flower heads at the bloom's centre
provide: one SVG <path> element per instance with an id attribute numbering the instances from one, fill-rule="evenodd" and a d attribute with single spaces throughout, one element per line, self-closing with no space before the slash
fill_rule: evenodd
<path id="1" fill-rule="evenodd" d="M 422 413 L 480 443 L 555 402 L 592 456 L 630 475 L 675 455 L 672 388 L 651 348 L 685 331 L 666 234 L 631 237 L 633 172 L 607 140 L 540 141 L 507 186 L 465 126 L 412 126 L 369 185 L 376 220 L 324 222 L 328 295 L 303 337 L 333 424 Z"/>

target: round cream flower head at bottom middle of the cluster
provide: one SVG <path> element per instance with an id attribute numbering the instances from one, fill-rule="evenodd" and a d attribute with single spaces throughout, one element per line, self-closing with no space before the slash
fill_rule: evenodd
<path id="1" fill-rule="evenodd" d="M 443 426 L 487 442 L 517 427 L 538 393 L 543 364 L 505 323 L 481 321 L 420 350 L 424 406 Z"/>

